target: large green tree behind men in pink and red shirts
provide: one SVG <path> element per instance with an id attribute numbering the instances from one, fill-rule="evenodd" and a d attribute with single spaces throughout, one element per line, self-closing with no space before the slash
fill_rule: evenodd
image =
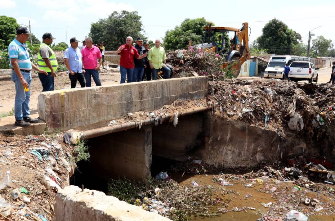
<path id="1" fill-rule="evenodd" d="M 89 36 L 93 43 L 103 41 L 106 50 L 116 50 L 126 43 L 126 37 L 131 36 L 135 40 L 142 36 L 141 16 L 137 11 L 114 11 L 108 18 L 91 23 Z"/>

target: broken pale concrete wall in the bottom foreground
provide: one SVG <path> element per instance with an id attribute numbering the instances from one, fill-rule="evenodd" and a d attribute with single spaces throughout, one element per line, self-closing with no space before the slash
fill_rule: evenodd
<path id="1" fill-rule="evenodd" d="M 92 195 L 93 192 L 93 195 Z M 55 221 L 169 221 L 96 190 L 67 186 L 56 195 Z"/>

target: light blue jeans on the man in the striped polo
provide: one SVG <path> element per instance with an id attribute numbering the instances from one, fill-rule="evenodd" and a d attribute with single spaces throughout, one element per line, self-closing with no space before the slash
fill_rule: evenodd
<path id="1" fill-rule="evenodd" d="M 12 71 L 12 81 L 15 83 L 15 103 L 14 116 L 16 120 L 22 120 L 23 117 L 29 117 L 29 101 L 30 101 L 30 84 L 31 74 L 21 71 L 23 78 L 28 82 L 29 91 L 25 92 L 20 79 L 17 77 L 15 71 Z"/>

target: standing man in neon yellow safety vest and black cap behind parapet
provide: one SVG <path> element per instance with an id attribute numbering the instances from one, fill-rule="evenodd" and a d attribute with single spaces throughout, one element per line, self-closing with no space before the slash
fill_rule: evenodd
<path id="1" fill-rule="evenodd" d="M 54 76 L 56 76 L 58 62 L 54 51 L 50 48 L 50 45 L 54 39 L 55 38 L 52 37 L 51 33 L 44 33 L 37 58 L 37 63 L 40 69 L 46 70 L 48 73 L 48 76 L 42 73 L 38 73 L 42 83 L 43 92 L 55 90 Z"/>

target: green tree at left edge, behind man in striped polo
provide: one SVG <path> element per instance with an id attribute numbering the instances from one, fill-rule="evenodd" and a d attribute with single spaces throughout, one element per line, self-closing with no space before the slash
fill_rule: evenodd
<path id="1" fill-rule="evenodd" d="M 16 29 L 20 25 L 15 18 L 0 16 L 0 49 L 8 48 L 8 45 L 16 37 Z"/>

